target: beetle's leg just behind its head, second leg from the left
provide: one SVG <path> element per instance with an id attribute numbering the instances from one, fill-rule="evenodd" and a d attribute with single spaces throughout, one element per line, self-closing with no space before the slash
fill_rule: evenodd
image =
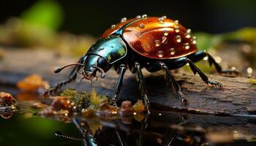
<path id="1" fill-rule="evenodd" d="M 119 66 L 119 77 L 118 77 L 118 80 L 116 83 L 115 95 L 113 96 L 113 98 L 110 101 L 110 104 L 112 104 L 113 106 L 116 106 L 116 107 L 117 107 L 116 100 L 117 100 L 118 94 L 121 91 L 121 86 L 122 86 L 123 79 L 124 79 L 124 73 L 126 70 L 127 69 L 125 68 L 124 64 L 121 64 Z"/>

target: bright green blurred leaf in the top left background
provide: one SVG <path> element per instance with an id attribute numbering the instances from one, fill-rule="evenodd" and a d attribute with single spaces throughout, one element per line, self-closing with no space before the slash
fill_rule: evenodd
<path id="1" fill-rule="evenodd" d="M 58 29 L 63 22 L 63 10 L 56 1 L 37 1 L 20 16 L 24 23 L 33 26 Z"/>

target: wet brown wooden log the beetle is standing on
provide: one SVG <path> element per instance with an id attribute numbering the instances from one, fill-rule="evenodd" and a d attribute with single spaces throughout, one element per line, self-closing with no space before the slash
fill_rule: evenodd
<path id="1" fill-rule="evenodd" d="M 16 82 L 29 74 L 40 74 L 51 85 L 64 80 L 68 71 L 54 74 L 56 66 L 68 64 L 78 59 L 58 57 L 53 52 L 42 50 L 6 50 L 4 59 L 0 61 L 1 90 L 6 85 L 15 85 Z M 191 113 L 205 113 L 215 115 L 252 115 L 256 113 L 256 87 L 249 84 L 244 77 L 222 77 L 219 75 L 208 75 L 211 80 L 222 82 L 223 90 L 206 85 L 198 75 L 192 73 L 173 74 L 181 84 L 183 93 L 187 96 L 189 105 L 181 104 L 176 93 L 170 91 L 161 72 L 150 74 L 143 72 L 148 88 L 148 97 L 151 107 L 155 110 L 180 110 Z M 118 75 L 115 71 L 107 72 L 105 79 L 97 82 L 74 82 L 65 86 L 72 87 L 78 91 L 90 92 L 96 88 L 98 93 L 113 96 Z M 6 89 L 7 90 L 7 89 Z M 129 71 L 125 74 L 124 84 L 120 94 L 119 102 L 122 100 L 136 101 L 140 99 L 138 83 L 135 82 L 135 74 Z"/>

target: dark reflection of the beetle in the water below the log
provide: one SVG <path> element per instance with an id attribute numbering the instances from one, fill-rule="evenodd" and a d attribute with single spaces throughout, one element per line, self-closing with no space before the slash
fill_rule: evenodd
<path id="1" fill-rule="evenodd" d="M 85 118 L 73 118 L 72 122 L 77 126 L 82 138 L 70 137 L 61 132 L 56 132 L 56 136 L 67 139 L 81 140 L 83 145 L 106 145 L 106 146 L 124 146 L 124 145 L 204 145 L 206 139 L 203 133 L 198 131 L 181 131 L 171 128 L 172 125 L 181 126 L 187 123 L 187 118 L 174 113 L 168 113 L 167 118 L 159 121 L 159 113 L 153 112 L 150 117 L 142 122 L 132 120 L 110 120 L 101 121 L 102 127 L 97 129 L 93 135 Z M 159 124 L 161 123 L 161 124 Z M 93 124 L 93 123 L 92 123 Z"/>

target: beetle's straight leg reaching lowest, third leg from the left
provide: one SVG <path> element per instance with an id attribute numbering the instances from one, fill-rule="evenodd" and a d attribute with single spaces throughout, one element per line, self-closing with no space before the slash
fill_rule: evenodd
<path id="1" fill-rule="evenodd" d="M 135 69 L 137 70 L 137 73 L 138 73 L 138 79 L 139 79 L 139 88 L 140 88 L 140 93 L 141 93 L 141 96 L 143 96 L 143 99 L 144 99 L 144 104 L 146 106 L 146 110 L 148 112 L 148 115 L 150 114 L 150 108 L 149 108 L 149 100 L 148 100 L 148 96 L 146 94 L 146 85 L 145 85 L 145 82 L 144 82 L 144 78 L 143 78 L 143 74 L 141 72 L 141 67 L 140 67 L 140 64 L 138 64 L 137 62 L 135 63 Z"/>

